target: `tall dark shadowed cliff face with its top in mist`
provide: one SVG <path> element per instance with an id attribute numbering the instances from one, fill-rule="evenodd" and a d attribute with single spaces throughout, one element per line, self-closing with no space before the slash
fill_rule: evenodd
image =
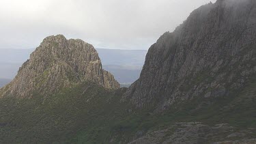
<path id="1" fill-rule="evenodd" d="M 158 109 L 192 98 L 228 96 L 256 73 L 256 1 L 218 0 L 153 44 L 123 96 Z"/>

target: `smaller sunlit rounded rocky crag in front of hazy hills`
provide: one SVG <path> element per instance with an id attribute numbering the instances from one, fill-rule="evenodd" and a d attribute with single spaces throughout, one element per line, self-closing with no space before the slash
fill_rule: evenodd
<path id="1" fill-rule="evenodd" d="M 1 89 L 2 96 L 31 97 L 47 95 L 65 87 L 91 81 L 106 89 L 117 89 L 119 83 L 102 69 L 94 46 L 83 40 L 66 40 L 63 35 L 49 36 L 23 63 L 17 76 Z"/>

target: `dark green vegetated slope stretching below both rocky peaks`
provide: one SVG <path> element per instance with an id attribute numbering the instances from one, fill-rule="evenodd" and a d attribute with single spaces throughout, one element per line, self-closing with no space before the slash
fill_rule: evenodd
<path id="1" fill-rule="evenodd" d="M 120 103 L 124 91 L 85 83 L 63 89 L 47 100 L 39 95 L 29 100 L 2 99 L 0 143 L 128 142 L 138 131 L 167 128 L 177 121 L 256 127 L 256 81 L 228 98 L 195 99 L 182 109 L 158 114 L 150 110 L 129 113 L 130 104 Z M 208 104 L 197 109 L 202 102 Z"/>

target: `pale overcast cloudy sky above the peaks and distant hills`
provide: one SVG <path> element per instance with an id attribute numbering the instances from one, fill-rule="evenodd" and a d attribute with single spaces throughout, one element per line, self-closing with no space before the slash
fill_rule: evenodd
<path id="1" fill-rule="evenodd" d="M 0 48 L 35 48 L 63 34 L 96 48 L 148 49 L 210 1 L 1 0 Z"/>

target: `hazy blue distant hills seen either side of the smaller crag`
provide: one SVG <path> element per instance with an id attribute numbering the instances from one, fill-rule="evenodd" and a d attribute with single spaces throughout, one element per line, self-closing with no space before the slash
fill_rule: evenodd
<path id="1" fill-rule="evenodd" d="M 18 68 L 35 49 L 0 49 L 0 77 L 14 78 Z M 96 48 L 102 68 L 111 72 L 119 83 L 133 83 L 139 78 L 147 51 Z M 115 65 L 115 68 L 113 68 Z M 124 76 L 124 77 L 123 77 Z"/>

